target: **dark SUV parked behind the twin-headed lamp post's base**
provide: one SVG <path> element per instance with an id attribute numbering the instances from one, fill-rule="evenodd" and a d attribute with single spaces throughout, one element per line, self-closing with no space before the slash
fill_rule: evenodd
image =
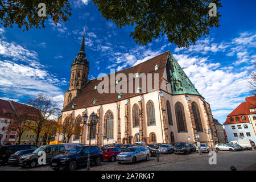
<path id="1" fill-rule="evenodd" d="M 55 156 L 51 160 L 51 168 L 55 171 L 67 169 L 75 171 L 77 167 L 87 164 L 89 146 L 72 148 L 68 153 Z M 103 153 L 100 147 L 90 146 L 90 163 L 100 165 L 103 160 Z"/>

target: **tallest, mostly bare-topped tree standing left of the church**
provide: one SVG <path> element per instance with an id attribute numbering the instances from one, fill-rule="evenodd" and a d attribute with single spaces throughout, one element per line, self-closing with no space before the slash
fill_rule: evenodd
<path id="1" fill-rule="evenodd" d="M 37 145 L 42 130 L 48 125 L 49 120 L 57 118 L 60 109 L 54 100 L 44 94 L 38 94 L 30 99 L 28 105 L 36 109 L 30 117 L 30 129 L 36 135 L 35 144 Z"/>

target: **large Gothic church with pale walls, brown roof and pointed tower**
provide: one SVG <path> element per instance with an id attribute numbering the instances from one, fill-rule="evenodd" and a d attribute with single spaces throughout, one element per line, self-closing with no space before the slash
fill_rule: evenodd
<path id="1" fill-rule="evenodd" d="M 92 112 L 99 117 L 92 128 L 91 144 L 123 143 L 133 144 L 141 141 L 149 143 L 202 142 L 214 146 L 218 143 L 210 105 L 197 91 L 170 51 L 144 61 L 141 64 L 115 75 L 129 79 L 109 81 L 108 86 L 127 85 L 134 92 L 100 93 L 101 80 L 88 81 L 89 62 L 85 54 L 85 37 L 78 56 L 71 65 L 69 89 L 65 92 L 61 122 L 73 117 L 81 123 L 80 134 L 74 134 L 69 143 L 89 144 L 89 127 L 83 125 L 82 115 Z M 141 75 L 158 75 L 151 79 L 152 86 L 146 91 Z M 111 75 L 105 76 L 111 80 Z M 128 84 L 138 81 L 139 85 Z M 135 86 L 134 86 L 135 85 Z M 105 86 L 106 87 L 106 86 Z M 106 89 L 106 88 L 105 88 Z M 211 129 L 208 135 L 204 130 Z M 59 138 L 61 138 L 61 134 Z"/>

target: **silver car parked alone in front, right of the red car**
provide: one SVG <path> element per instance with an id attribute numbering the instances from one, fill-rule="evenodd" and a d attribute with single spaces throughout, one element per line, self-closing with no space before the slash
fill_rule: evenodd
<path id="1" fill-rule="evenodd" d="M 135 163 L 138 160 L 149 160 L 150 151 L 145 146 L 132 146 L 126 148 L 123 152 L 117 155 L 118 164 Z"/>

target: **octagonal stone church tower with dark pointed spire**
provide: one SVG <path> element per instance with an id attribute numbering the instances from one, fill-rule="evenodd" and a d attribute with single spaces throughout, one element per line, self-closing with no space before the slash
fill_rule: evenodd
<path id="1" fill-rule="evenodd" d="M 85 30 L 84 30 L 85 35 Z M 84 88 L 89 74 L 89 62 L 86 59 L 84 51 L 84 36 L 78 56 L 73 60 L 71 65 L 71 76 L 69 81 L 69 90 L 65 92 L 63 108 L 77 96 Z M 74 103 L 75 104 L 75 103 Z"/>

